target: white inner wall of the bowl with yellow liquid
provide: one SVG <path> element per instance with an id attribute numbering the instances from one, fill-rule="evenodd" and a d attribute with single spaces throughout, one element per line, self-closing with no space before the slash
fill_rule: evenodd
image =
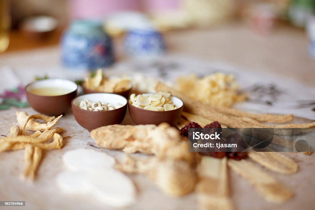
<path id="1" fill-rule="evenodd" d="M 26 87 L 26 91 L 30 92 L 36 88 L 65 88 L 69 89 L 69 93 L 77 89 L 77 84 L 66 79 L 44 79 L 34 82 Z"/>

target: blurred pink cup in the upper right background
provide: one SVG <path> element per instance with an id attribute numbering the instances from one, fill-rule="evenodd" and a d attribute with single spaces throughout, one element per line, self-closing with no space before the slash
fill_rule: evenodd
<path id="1" fill-rule="evenodd" d="M 269 33 L 276 20 L 274 8 L 268 4 L 255 5 L 250 16 L 252 27 L 261 34 Z"/>

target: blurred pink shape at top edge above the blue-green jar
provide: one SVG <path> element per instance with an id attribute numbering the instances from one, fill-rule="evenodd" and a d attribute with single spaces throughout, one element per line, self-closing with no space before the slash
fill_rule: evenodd
<path id="1" fill-rule="evenodd" d="M 71 19 L 101 19 L 122 10 L 139 10 L 139 0 L 70 0 Z"/>

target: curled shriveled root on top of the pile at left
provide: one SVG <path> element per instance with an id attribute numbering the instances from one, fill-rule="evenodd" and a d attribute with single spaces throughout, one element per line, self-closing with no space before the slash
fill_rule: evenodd
<path id="1" fill-rule="evenodd" d="M 58 120 L 60 119 L 62 115 L 55 118 L 55 117 L 49 117 L 43 114 L 28 115 L 25 111 L 17 111 L 16 116 L 17 116 L 18 122 L 22 126 L 22 133 L 24 133 L 25 129 L 28 129 L 31 131 L 44 131 L 44 130 L 50 129 L 54 125 L 57 124 Z M 39 123 L 39 122 L 36 122 L 35 119 L 42 119 L 46 121 L 47 123 Z"/>

